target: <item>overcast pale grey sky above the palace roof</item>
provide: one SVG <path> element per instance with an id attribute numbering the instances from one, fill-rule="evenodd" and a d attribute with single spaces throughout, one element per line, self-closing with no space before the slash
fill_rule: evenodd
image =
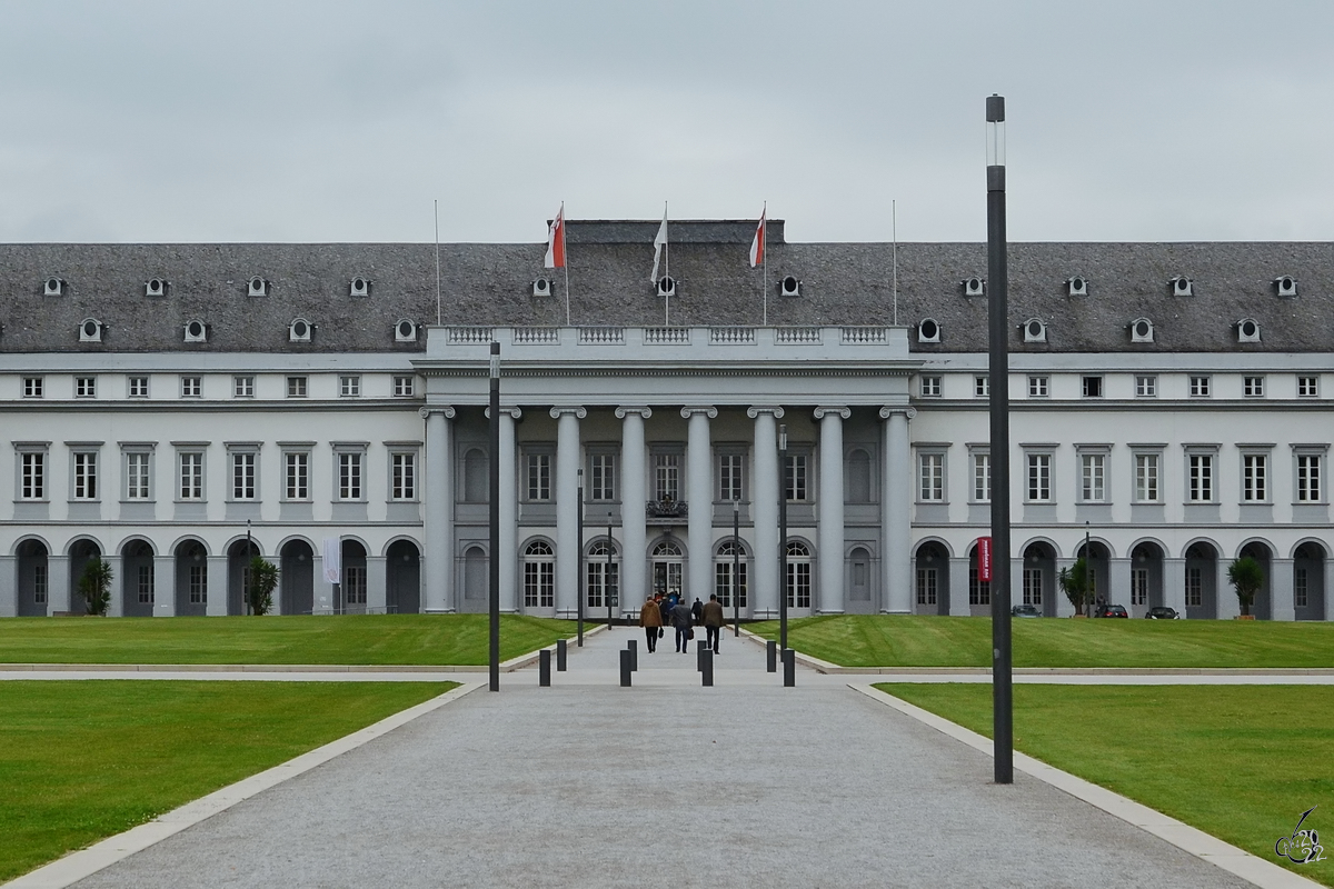
<path id="1" fill-rule="evenodd" d="M 0 0 L 0 241 L 1334 237 L 1329 0 Z"/>

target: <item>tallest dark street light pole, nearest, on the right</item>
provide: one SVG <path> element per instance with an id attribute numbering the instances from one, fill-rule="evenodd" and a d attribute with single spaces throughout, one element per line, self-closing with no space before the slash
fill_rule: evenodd
<path id="1" fill-rule="evenodd" d="M 987 312 L 991 400 L 991 718 L 995 782 L 1014 784 L 1010 644 L 1010 268 L 1005 233 L 1005 99 L 987 97 Z"/>

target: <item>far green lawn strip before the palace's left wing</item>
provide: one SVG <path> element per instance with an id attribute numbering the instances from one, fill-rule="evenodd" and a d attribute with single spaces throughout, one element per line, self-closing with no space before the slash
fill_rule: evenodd
<path id="1" fill-rule="evenodd" d="M 500 658 L 574 633 L 572 621 L 503 614 Z M 488 640 L 486 614 L 23 617 L 0 621 L 0 662 L 480 665 Z"/>

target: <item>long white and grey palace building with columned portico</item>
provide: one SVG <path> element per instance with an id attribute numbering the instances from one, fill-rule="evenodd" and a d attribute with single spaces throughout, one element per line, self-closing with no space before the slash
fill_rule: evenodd
<path id="1" fill-rule="evenodd" d="M 95 557 L 113 614 L 244 613 L 251 552 L 284 614 L 484 610 L 491 558 L 528 614 L 990 613 L 986 245 L 771 220 L 760 269 L 754 221 L 680 221 L 651 280 L 656 231 L 568 221 L 558 272 L 544 243 L 0 245 L 0 616 L 81 612 Z M 1133 616 L 1230 617 L 1253 556 L 1259 617 L 1334 617 L 1334 245 L 1009 259 L 1014 602 L 1071 613 L 1087 553 Z"/>

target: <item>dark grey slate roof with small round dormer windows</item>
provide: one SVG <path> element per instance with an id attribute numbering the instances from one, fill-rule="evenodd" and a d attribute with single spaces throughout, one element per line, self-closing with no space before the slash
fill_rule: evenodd
<path id="1" fill-rule="evenodd" d="M 579 221 L 568 227 L 571 320 L 575 325 L 654 327 L 664 301 L 650 283 L 658 221 Z M 747 252 L 754 221 L 672 221 L 660 273 L 676 280 L 672 325 L 758 325 L 762 269 Z M 563 325 L 564 275 L 543 269 L 544 243 L 442 244 L 442 321 L 454 325 Z M 782 220 L 768 229 L 771 325 L 884 325 L 894 321 L 891 244 L 788 244 Z M 1010 316 L 1015 352 L 1334 352 L 1334 244 L 1011 244 Z M 984 244 L 899 244 L 898 317 L 940 324 L 930 352 L 984 352 L 986 297 L 962 281 L 986 277 Z M 800 296 L 779 296 L 779 280 Z M 1193 280 L 1194 296 L 1171 295 L 1170 279 Z M 1298 296 L 1279 297 L 1291 276 Z M 271 283 L 267 297 L 247 281 Z M 368 297 L 350 281 L 371 281 Z M 1071 297 L 1066 280 L 1089 281 Z M 61 279 L 63 296 L 43 296 Z M 152 277 L 164 297 L 144 295 Z M 554 295 L 532 296 L 536 277 Z M 101 344 L 79 341 L 84 319 L 105 325 Z M 297 317 L 315 325 L 307 344 L 288 343 Z M 1023 343 L 1021 324 L 1049 324 L 1046 344 Z M 1131 343 L 1138 317 L 1155 341 Z M 209 325 L 207 343 L 184 343 L 189 320 Z M 434 244 L 8 244 L 0 245 L 0 352 L 420 352 L 396 344 L 400 319 L 436 320 Z M 1259 344 L 1238 344 L 1234 323 L 1259 323 Z"/>

